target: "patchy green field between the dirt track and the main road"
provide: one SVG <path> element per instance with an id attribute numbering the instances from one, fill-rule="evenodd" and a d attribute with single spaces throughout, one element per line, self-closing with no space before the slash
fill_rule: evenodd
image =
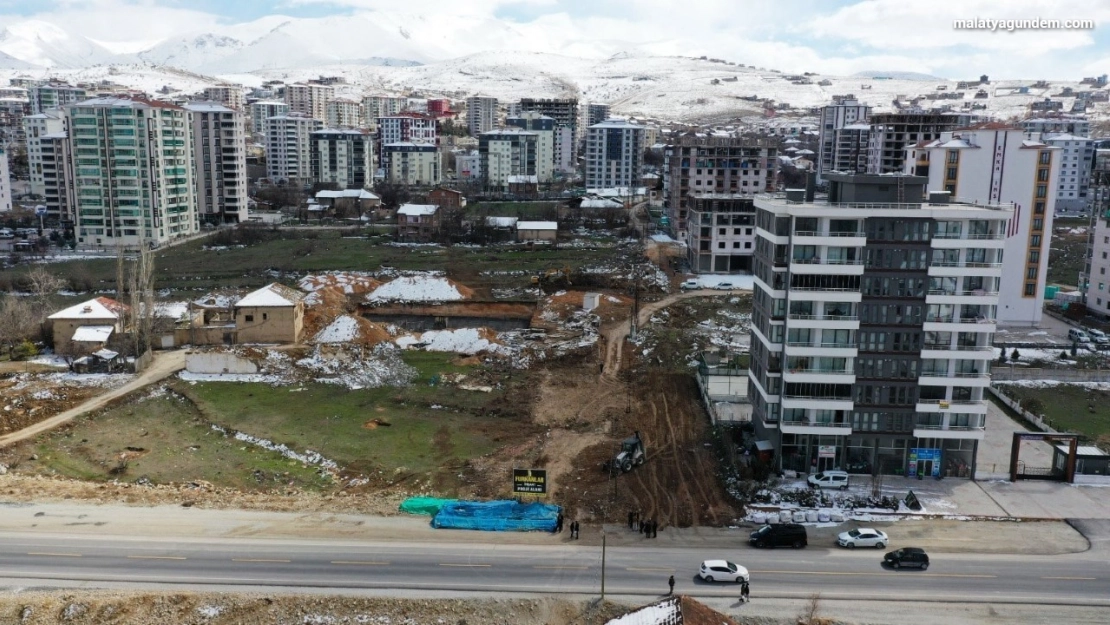
<path id="1" fill-rule="evenodd" d="M 524 379 L 506 380 L 492 393 L 461 391 L 440 383 L 441 376 L 476 367 L 452 364 L 453 359 L 406 352 L 418 375 L 403 389 L 175 380 L 170 393 L 133 400 L 40 437 L 33 445 L 40 460 L 18 470 L 81 480 L 204 480 L 242 490 L 332 486 L 314 467 L 212 429 L 219 425 L 297 453 L 316 452 L 347 475 L 384 482 L 417 476 L 451 492 L 467 458 L 532 427 L 516 419 L 527 406 L 516 401 L 527 386 Z M 130 456 L 125 468 L 120 454 Z"/>

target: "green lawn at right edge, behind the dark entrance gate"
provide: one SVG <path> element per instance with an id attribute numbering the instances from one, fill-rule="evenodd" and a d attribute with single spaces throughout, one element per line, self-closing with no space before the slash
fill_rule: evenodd
<path id="1" fill-rule="evenodd" d="M 1110 443 L 1110 391 L 1062 384 L 1051 389 L 1027 389 L 1012 384 L 1005 387 L 1007 393 L 1019 401 L 1040 400 L 1038 412 L 1043 412 L 1057 430 L 1083 434 L 1090 441 L 1101 438 Z"/>

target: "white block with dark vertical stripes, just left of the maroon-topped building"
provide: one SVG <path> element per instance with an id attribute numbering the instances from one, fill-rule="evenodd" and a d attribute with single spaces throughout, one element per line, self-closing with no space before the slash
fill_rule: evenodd
<path id="1" fill-rule="evenodd" d="M 374 142 L 370 131 L 327 128 L 312 133 L 312 181 L 342 189 L 374 183 Z"/>

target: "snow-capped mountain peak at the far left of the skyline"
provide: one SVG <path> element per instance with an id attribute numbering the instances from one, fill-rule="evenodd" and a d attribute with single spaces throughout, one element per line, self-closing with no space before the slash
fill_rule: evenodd
<path id="1" fill-rule="evenodd" d="M 0 52 L 27 67 L 41 68 L 87 68 L 129 60 L 85 37 L 41 20 L 26 20 L 4 28 L 0 32 Z M 0 59 L 0 63 L 17 69 L 7 59 Z"/>

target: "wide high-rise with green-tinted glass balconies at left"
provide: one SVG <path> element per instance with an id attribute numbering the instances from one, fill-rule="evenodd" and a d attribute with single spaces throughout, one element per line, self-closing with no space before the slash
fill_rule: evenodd
<path id="1" fill-rule="evenodd" d="M 200 230 L 189 111 L 141 98 L 65 108 L 81 246 L 158 245 Z"/>

